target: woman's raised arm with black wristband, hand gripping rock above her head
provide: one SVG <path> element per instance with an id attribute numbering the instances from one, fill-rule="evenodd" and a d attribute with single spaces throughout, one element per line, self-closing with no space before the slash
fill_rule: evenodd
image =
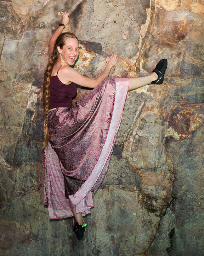
<path id="1" fill-rule="evenodd" d="M 62 21 L 61 21 L 61 23 L 64 24 L 64 26 L 66 26 L 69 22 L 69 15 L 70 15 L 69 12 L 62 12 Z M 50 39 L 49 46 L 48 46 L 48 56 L 49 56 L 49 58 L 52 55 L 52 50 L 54 48 L 55 41 L 56 41 L 57 37 L 60 36 L 63 29 L 64 29 L 63 26 L 59 26 L 57 28 L 57 30 L 55 31 L 55 33 L 52 35 L 51 39 Z"/>

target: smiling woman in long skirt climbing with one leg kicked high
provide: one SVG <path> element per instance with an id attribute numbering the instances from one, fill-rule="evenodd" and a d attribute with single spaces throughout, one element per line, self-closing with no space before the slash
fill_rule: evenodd
<path id="1" fill-rule="evenodd" d="M 45 205 L 50 218 L 74 215 L 74 231 L 81 240 L 86 226 L 82 216 L 90 213 L 92 197 L 106 175 L 127 91 L 162 84 L 167 60 L 148 76 L 106 79 L 118 60 L 112 54 L 97 79 L 85 77 L 71 67 L 79 55 L 79 42 L 73 33 L 61 34 L 68 21 L 69 14 L 63 13 L 63 24 L 49 43 L 44 81 Z M 95 89 L 72 106 L 76 84 Z"/>

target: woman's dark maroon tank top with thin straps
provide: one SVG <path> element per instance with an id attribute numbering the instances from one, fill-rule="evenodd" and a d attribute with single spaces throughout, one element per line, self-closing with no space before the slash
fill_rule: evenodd
<path id="1" fill-rule="evenodd" d="M 58 68 L 57 74 L 60 68 Z M 72 99 L 76 95 L 76 84 L 72 82 L 71 84 L 66 85 L 60 81 L 57 75 L 50 76 L 49 109 L 57 107 L 72 107 Z"/>

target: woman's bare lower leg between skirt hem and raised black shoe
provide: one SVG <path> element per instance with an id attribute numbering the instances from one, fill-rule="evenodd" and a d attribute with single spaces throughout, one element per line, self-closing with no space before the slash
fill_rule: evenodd
<path id="1" fill-rule="evenodd" d="M 148 75 L 148 76 L 130 78 L 128 91 L 132 91 L 139 87 L 151 84 L 152 81 L 155 81 L 157 79 L 158 79 L 158 75 L 155 72 L 153 72 L 151 75 Z"/>

